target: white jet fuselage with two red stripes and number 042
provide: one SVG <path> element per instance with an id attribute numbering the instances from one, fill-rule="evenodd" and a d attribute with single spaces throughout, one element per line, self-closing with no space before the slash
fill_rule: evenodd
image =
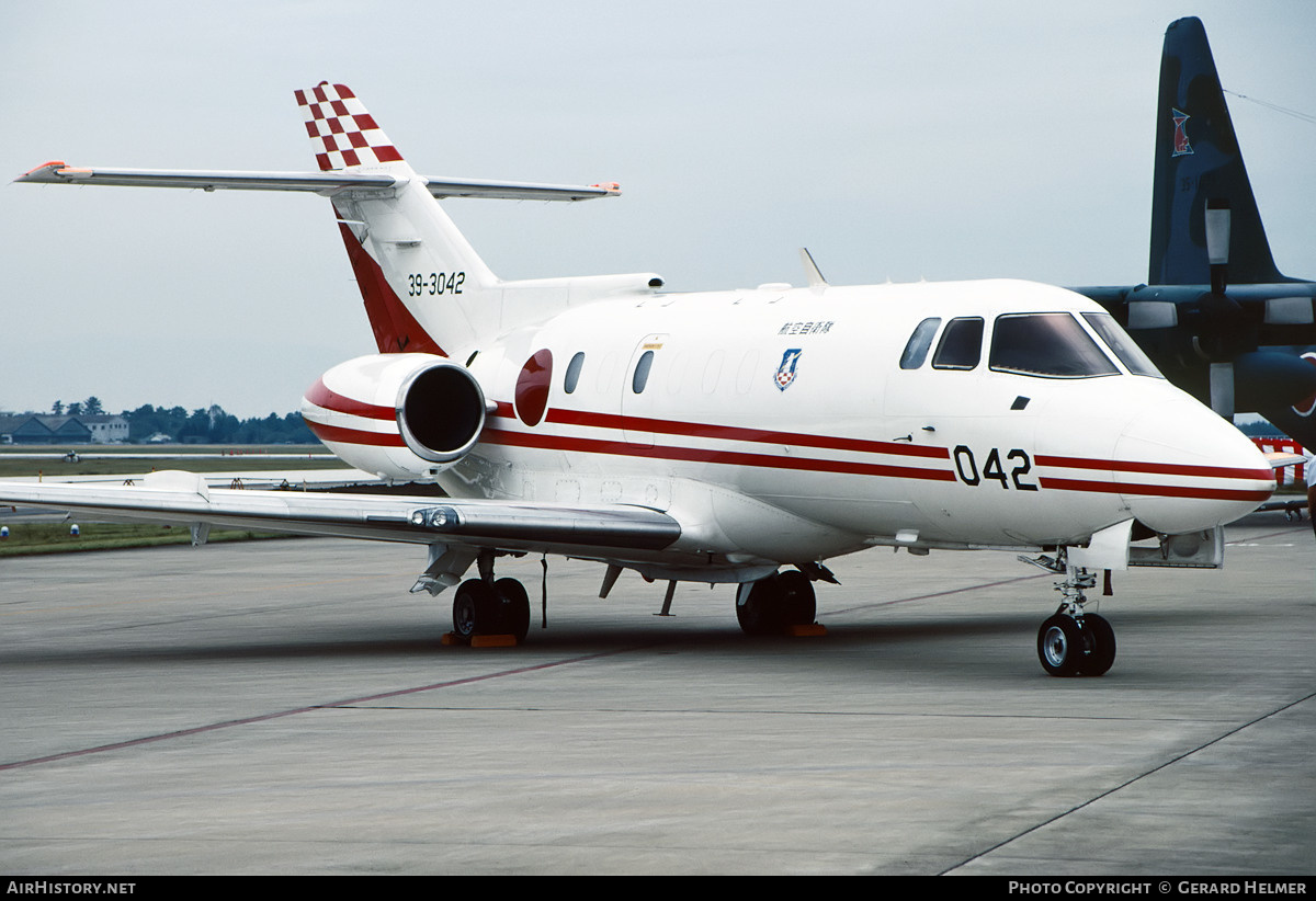
<path id="1" fill-rule="evenodd" d="M 1188 531 L 1253 509 L 1274 483 L 1250 442 L 1104 345 L 1109 375 L 992 368 L 998 316 L 1096 310 L 1007 280 L 587 304 L 455 350 L 497 408 L 437 479 L 458 497 L 666 510 L 672 550 L 732 562 L 1082 543 L 1129 518 Z M 980 362 L 901 368 L 929 317 L 980 317 Z"/>

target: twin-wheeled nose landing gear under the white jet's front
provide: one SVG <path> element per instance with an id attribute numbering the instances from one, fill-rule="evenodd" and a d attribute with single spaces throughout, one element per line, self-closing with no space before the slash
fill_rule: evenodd
<path id="1" fill-rule="evenodd" d="M 1084 613 L 1084 588 L 1096 585 L 1096 573 L 1065 564 L 1063 558 L 1026 560 L 1065 573 L 1055 591 L 1065 598 L 1037 630 L 1037 659 L 1053 676 L 1103 676 L 1115 663 L 1115 630 L 1099 613 Z"/>

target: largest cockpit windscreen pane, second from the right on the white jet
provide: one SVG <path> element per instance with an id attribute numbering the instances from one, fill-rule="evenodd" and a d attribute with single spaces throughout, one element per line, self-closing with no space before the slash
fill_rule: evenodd
<path id="1" fill-rule="evenodd" d="M 996 317 L 991 368 L 1046 379 L 1119 375 L 1115 363 L 1069 313 L 1023 313 Z"/>

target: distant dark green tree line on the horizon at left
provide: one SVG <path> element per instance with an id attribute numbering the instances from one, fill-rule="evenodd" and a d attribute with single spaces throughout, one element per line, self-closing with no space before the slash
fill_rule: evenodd
<path id="1" fill-rule="evenodd" d="M 50 406 L 55 416 L 97 416 L 105 410 L 96 397 L 84 401 L 63 404 L 55 401 Z M 225 413 L 217 404 L 188 413 L 182 406 L 153 406 L 142 404 L 136 410 L 120 413 L 128 420 L 128 439 L 146 442 L 155 435 L 168 435 L 171 441 L 186 445 L 317 445 L 316 438 L 300 413 L 278 416 L 270 413 L 265 418 L 240 420 Z"/>

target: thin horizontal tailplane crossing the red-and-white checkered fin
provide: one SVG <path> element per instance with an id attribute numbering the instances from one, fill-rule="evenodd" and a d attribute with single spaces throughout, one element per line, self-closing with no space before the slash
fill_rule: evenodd
<path id="1" fill-rule="evenodd" d="M 496 200 L 590 200 L 621 193 L 616 183 L 574 185 L 482 179 L 424 179 L 436 197 L 491 197 Z M 111 187 L 192 188 L 200 191 L 391 191 L 405 179 L 361 172 L 241 172 L 220 170 L 104 168 L 50 162 L 14 182 L 36 184 L 101 184 Z"/>

